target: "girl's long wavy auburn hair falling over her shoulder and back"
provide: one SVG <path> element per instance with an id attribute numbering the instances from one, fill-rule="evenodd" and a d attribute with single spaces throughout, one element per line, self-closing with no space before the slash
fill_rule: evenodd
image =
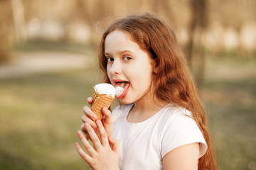
<path id="1" fill-rule="evenodd" d="M 174 31 L 162 18 L 152 13 L 142 13 L 121 18 L 105 30 L 100 42 L 98 57 L 100 68 L 107 77 L 107 59 L 105 57 L 105 38 L 114 30 L 128 33 L 139 47 L 149 52 L 156 61 L 158 72 L 154 77 L 156 97 L 174 103 L 191 111 L 193 119 L 203 133 L 208 149 L 198 161 L 198 169 L 218 169 L 213 140 L 208 129 L 206 113 L 198 96 L 193 75 L 188 67 L 185 55 L 178 45 Z"/>

